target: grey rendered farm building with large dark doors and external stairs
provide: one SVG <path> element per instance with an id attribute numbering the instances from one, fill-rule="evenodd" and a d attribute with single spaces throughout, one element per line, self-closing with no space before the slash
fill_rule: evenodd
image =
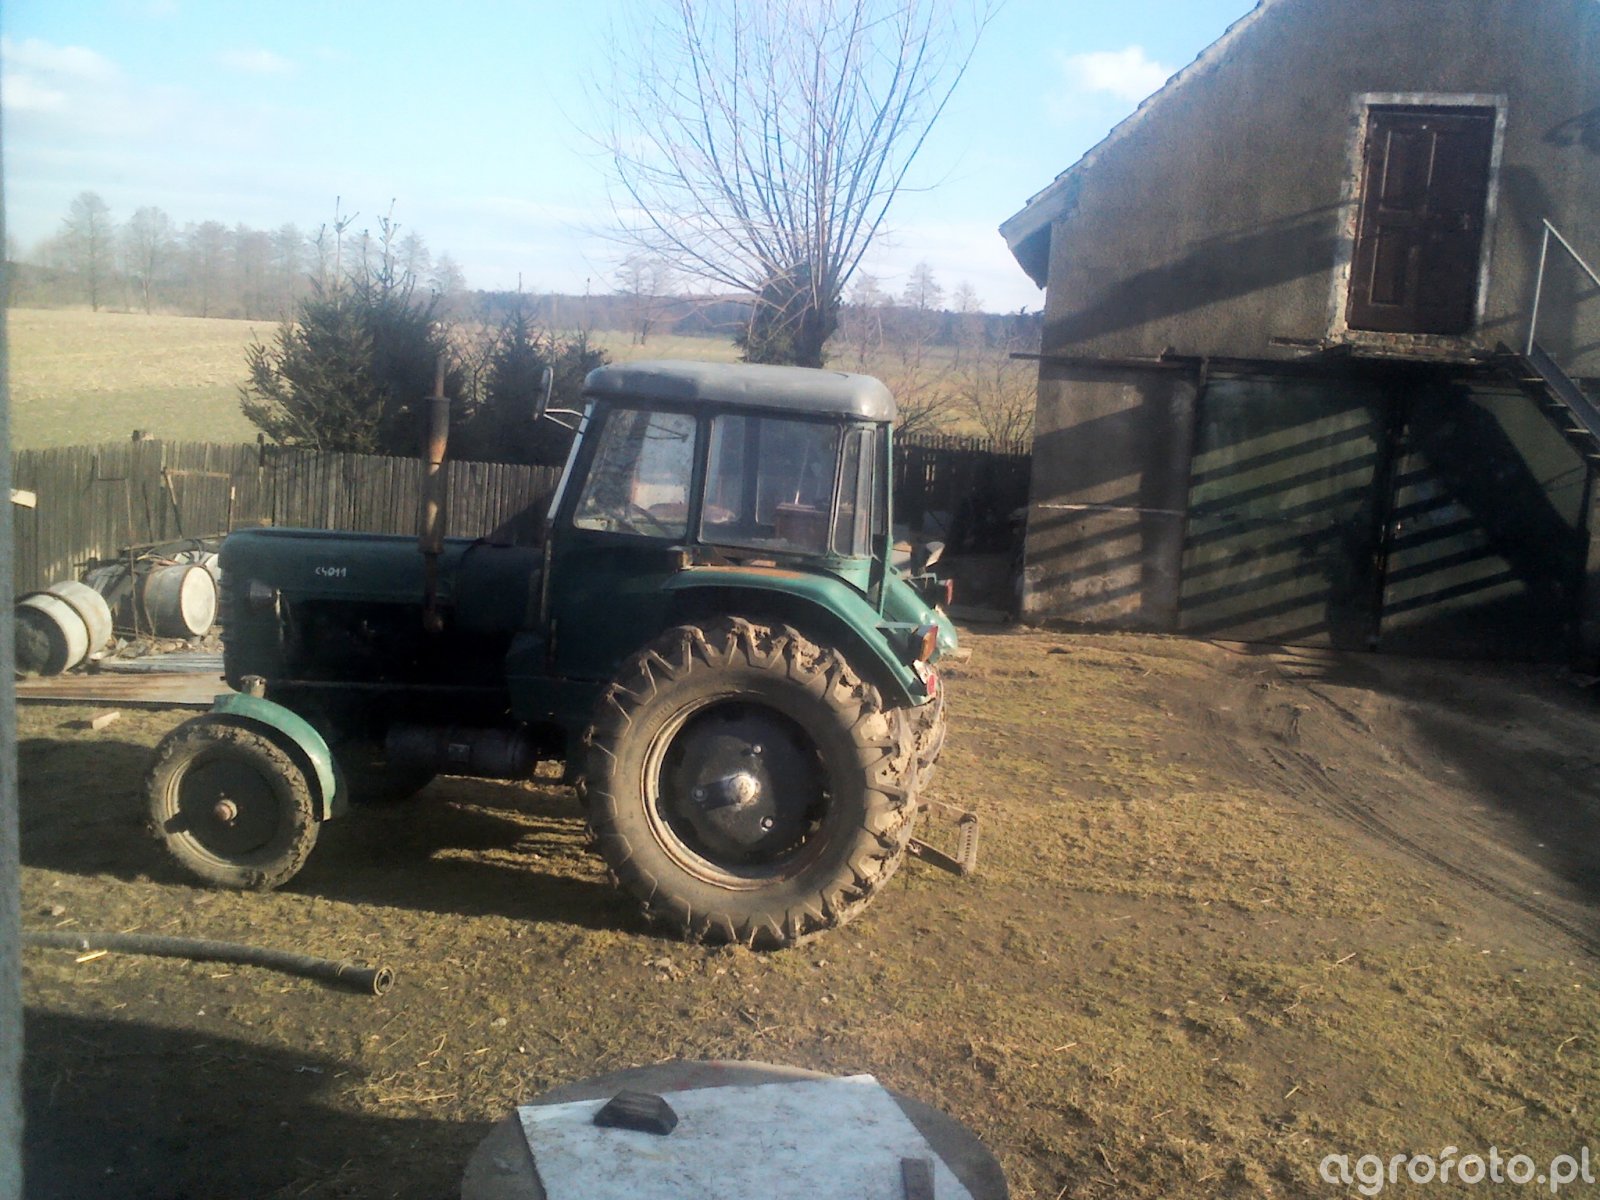
<path id="1" fill-rule="evenodd" d="M 1600 266 L 1600 0 L 1261 0 L 1002 226 L 1024 614 L 1600 653 L 1600 286 L 1544 222 Z"/>

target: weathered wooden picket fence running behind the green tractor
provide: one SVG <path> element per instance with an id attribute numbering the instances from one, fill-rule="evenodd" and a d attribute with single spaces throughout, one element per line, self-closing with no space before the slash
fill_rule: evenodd
<path id="1" fill-rule="evenodd" d="M 898 520 L 957 520 L 965 549 L 990 549 L 1027 501 L 1026 453 L 976 438 L 896 445 Z M 526 539 L 558 467 L 446 462 L 446 533 Z M 130 549 L 216 538 L 256 525 L 414 533 L 422 464 L 381 454 L 317 454 L 269 445 L 109 442 L 13 454 L 18 594 L 77 579 L 83 565 Z M 994 547 L 1003 549 L 1003 547 Z"/>

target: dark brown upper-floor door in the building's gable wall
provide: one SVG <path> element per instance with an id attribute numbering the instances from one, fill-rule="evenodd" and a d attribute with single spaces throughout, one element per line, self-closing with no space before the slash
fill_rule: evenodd
<path id="1" fill-rule="evenodd" d="M 1370 110 L 1352 330 L 1472 328 L 1493 142 L 1493 109 Z"/>

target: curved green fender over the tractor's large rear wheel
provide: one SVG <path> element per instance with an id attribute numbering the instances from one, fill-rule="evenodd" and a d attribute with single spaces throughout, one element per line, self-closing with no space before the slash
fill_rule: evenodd
<path id="1" fill-rule="evenodd" d="M 910 630 L 893 618 L 885 619 L 861 592 L 830 574 L 773 566 L 690 566 L 667 579 L 662 589 L 683 595 L 714 589 L 757 592 L 768 608 L 787 619 L 822 626 L 843 638 L 845 656 L 858 670 L 870 674 L 891 709 L 930 698 L 922 675 L 901 658 L 896 645 L 894 635 Z"/>

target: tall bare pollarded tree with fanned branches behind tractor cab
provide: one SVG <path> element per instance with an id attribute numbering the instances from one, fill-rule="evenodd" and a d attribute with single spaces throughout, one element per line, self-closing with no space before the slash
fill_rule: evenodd
<path id="1" fill-rule="evenodd" d="M 755 298 L 746 358 L 821 366 L 843 288 L 965 74 L 987 0 L 640 10 L 608 91 L 621 238 Z"/>

